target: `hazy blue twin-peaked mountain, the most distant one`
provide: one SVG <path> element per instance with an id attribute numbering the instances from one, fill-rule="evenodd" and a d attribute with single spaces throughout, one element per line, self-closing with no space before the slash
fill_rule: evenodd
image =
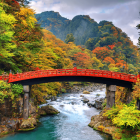
<path id="1" fill-rule="evenodd" d="M 35 17 L 41 27 L 51 31 L 63 41 L 65 41 L 67 34 L 72 33 L 77 45 L 84 45 L 89 38 L 96 37 L 99 31 L 98 23 L 88 15 L 78 15 L 72 20 L 68 20 L 58 12 L 46 11 L 35 14 Z"/>

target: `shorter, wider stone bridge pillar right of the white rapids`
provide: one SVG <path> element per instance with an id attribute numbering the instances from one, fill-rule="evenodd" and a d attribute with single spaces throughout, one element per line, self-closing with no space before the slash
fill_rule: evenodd
<path id="1" fill-rule="evenodd" d="M 116 91 L 116 85 L 106 85 L 106 99 L 107 99 L 107 105 L 106 107 L 112 107 L 115 106 L 115 91 Z"/>

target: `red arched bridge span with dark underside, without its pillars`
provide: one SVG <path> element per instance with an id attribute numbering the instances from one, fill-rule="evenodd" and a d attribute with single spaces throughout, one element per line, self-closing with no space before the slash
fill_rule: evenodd
<path id="1" fill-rule="evenodd" d="M 20 83 L 22 85 L 33 85 L 39 83 L 56 81 L 85 81 L 117 85 L 132 88 L 132 84 L 137 81 L 138 76 L 119 72 L 94 69 L 51 69 L 37 70 L 24 73 L 12 74 L 4 79 L 8 83 Z M 2 79 L 2 76 L 0 77 Z"/>

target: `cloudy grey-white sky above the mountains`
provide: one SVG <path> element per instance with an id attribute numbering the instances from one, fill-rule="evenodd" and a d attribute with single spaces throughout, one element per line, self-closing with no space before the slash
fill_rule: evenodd
<path id="1" fill-rule="evenodd" d="M 111 21 L 138 46 L 140 30 L 136 25 L 140 24 L 140 0 L 32 0 L 29 5 L 37 14 L 55 11 L 70 20 L 76 15 L 89 15 L 98 23 Z"/>

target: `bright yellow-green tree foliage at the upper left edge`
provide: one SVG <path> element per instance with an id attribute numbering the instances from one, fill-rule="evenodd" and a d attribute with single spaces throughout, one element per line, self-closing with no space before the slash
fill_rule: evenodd
<path id="1" fill-rule="evenodd" d="M 5 3 L 0 3 L 0 55 L 7 58 L 14 55 L 12 52 L 16 48 L 14 43 L 14 24 L 16 19 L 11 14 L 6 14 L 4 8 L 9 6 Z"/>

